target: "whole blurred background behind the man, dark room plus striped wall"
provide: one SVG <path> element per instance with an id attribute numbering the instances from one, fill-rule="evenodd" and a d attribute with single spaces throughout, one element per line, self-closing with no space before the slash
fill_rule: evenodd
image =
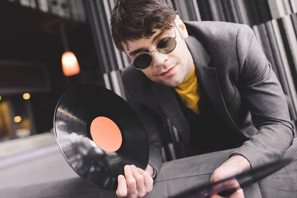
<path id="1" fill-rule="evenodd" d="M 115 48 L 109 29 L 115 1 L 0 0 L 1 141 L 50 131 L 58 99 L 73 86 L 101 85 L 126 99 L 120 75 L 130 60 Z M 296 124 L 297 0 L 172 2 L 184 21 L 250 26 L 288 96 Z M 74 76 L 62 69 L 68 50 L 80 68 Z M 183 157 L 176 129 L 164 121 L 163 160 Z"/>

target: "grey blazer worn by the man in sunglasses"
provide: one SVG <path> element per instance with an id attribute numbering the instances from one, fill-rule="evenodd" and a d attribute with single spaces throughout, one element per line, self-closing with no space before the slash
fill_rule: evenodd
<path id="1" fill-rule="evenodd" d="M 281 85 L 252 29 L 215 21 L 185 24 L 200 86 L 225 122 L 249 139 L 229 157 L 242 154 L 252 167 L 281 158 L 293 143 L 293 125 Z M 122 80 L 148 135 L 149 163 L 158 173 L 161 116 L 171 121 L 186 143 L 189 124 L 172 88 L 152 82 L 133 68 L 124 70 Z"/>

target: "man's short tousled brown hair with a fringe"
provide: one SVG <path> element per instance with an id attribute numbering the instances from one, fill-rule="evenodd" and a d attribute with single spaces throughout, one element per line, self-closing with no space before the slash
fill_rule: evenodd
<path id="1" fill-rule="evenodd" d="M 151 37 L 154 29 L 173 27 L 177 11 L 171 0 L 118 0 L 111 12 L 111 35 L 117 49 L 122 43 Z"/>

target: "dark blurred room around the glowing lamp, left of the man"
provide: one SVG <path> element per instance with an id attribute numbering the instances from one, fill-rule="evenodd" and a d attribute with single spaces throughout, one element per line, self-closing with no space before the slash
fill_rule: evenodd
<path id="1" fill-rule="evenodd" d="M 77 75 L 63 73 L 66 50 L 79 62 Z M 104 86 L 101 76 L 82 0 L 0 0 L 0 140 L 49 132 L 62 94 Z"/>

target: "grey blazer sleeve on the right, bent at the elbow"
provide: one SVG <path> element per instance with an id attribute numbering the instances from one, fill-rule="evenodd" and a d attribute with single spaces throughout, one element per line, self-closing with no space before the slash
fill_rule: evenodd
<path id="1" fill-rule="evenodd" d="M 229 157 L 241 154 L 255 167 L 280 159 L 293 144 L 294 130 L 285 94 L 253 30 L 241 26 L 236 43 L 240 94 L 258 133 Z"/>

